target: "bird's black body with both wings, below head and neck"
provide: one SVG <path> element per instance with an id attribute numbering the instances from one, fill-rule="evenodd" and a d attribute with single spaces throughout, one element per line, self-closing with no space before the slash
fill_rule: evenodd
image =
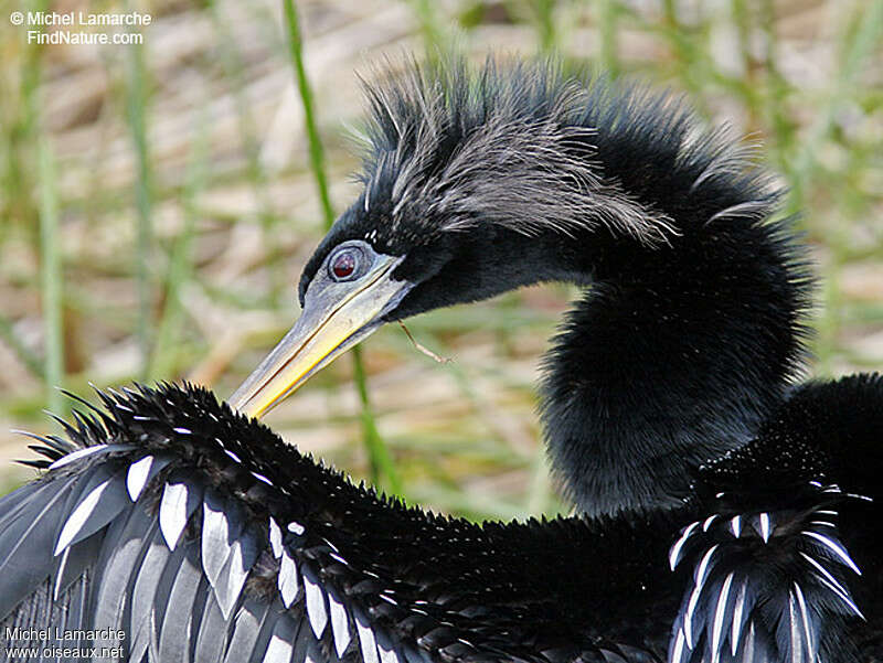
<path id="1" fill-rule="evenodd" d="M 783 409 L 781 420 L 818 411 L 811 403 L 817 393 L 826 399 L 860 394 L 873 404 L 883 397 L 883 381 L 807 388 Z M 833 431 L 821 426 L 787 432 L 787 448 L 805 450 L 790 464 L 781 463 L 783 431 L 772 426 L 746 451 L 703 469 L 677 517 L 661 511 L 476 525 L 354 486 L 203 389 L 166 386 L 103 400 L 105 410 L 78 415 L 79 425 L 67 428 L 73 443 L 56 438 L 35 447 L 49 460 L 34 464 L 76 450 L 92 453 L 62 461 L 0 501 L 0 629 L 121 629 L 127 641 L 97 644 L 120 644 L 132 661 L 300 663 L 308 654 L 312 661 L 393 663 L 664 660 L 695 576 L 680 562 L 670 570 L 670 544 L 693 518 L 715 515 L 724 523 L 741 514 L 740 537 L 717 525 L 696 527 L 682 549 L 681 559 L 698 562 L 712 538 L 731 548 L 710 565 L 693 618 L 694 650 L 678 663 L 712 660 L 720 584 L 730 568 L 744 571 L 751 588 L 732 660 L 790 660 L 777 653 L 794 643 L 776 623 L 790 619 L 781 601 L 791 576 L 805 588 L 813 646 L 823 660 L 879 655 L 880 577 L 865 585 L 826 546 L 799 534 L 812 530 L 808 523 L 821 517 L 813 515 L 819 510 L 844 510 L 844 524 L 854 531 L 844 530 L 843 542 L 869 570 L 879 569 L 880 528 L 862 524 L 879 521 L 879 507 L 826 492 L 838 472 L 844 483 L 858 480 L 851 463 L 830 460 L 836 448 L 826 445 Z M 857 446 L 872 445 L 863 436 L 881 424 L 880 409 L 865 415 L 852 434 L 837 418 L 826 423 L 837 426 L 834 439 L 841 434 Z M 129 491 L 139 482 L 128 486 L 131 468 L 146 457 L 153 458 L 151 472 L 132 500 Z M 826 483 L 813 486 L 813 480 Z M 79 505 L 105 482 L 84 517 Z M 177 494 L 169 488 L 174 485 L 185 490 Z M 224 527 L 206 520 L 211 510 L 223 514 Z M 749 525 L 762 511 L 774 521 L 766 543 Z M 837 517 L 827 517 L 832 526 L 826 536 L 843 545 Z M 278 548 L 270 518 L 281 534 Z M 54 555 L 72 520 L 79 528 L 68 536 L 70 550 Z M 837 579 L 845 600 L 819 580 L 800 552 Z M 770 581 L 775 558 L 794 573 L 772 573 Z M 294 594 L 284 600 L 281 585 L 292 577 Z M 853 601 L 872 616 L 870 623 L 859 622 Z M 730 642 L 724 637 L 717 646 L 723 661 L 731 660 Z M 862 657 L 855 659 L 859 649 Z"/>

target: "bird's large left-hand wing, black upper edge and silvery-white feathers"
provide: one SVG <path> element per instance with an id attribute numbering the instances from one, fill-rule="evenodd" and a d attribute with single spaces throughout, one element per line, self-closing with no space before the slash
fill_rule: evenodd
<path id="1" fill-rule="evenodd" d="M 46 473 L 0 501 L 11 646 L 132 662 L 659 660 L 680 595 L 667 518 L 479 526 L 380 499 L 203 389 L 102 397 L 67 426 L 75 445 L 41 438 L 31 464 Z"/>

